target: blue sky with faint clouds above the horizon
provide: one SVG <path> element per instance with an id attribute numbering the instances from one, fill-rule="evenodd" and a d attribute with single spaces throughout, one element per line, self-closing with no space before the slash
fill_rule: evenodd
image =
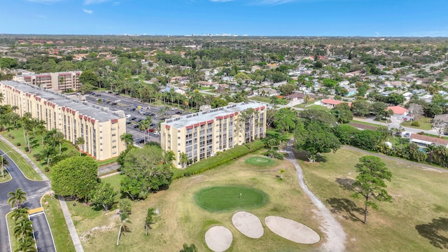
<path id="1" fill-rule="evenodd" d="M 0 34 L 448 36 L 447 0 L 1 0 Z"/>

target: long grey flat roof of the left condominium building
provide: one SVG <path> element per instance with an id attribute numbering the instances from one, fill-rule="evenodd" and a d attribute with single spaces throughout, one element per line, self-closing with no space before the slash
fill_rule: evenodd
<path id="1" fill-rule="evenodd" d="M 43 90 L 36 85 L 29 85 L 27 83 L 20 83 L 13 80 L 1 80 L 1 84 L 9 85 L 22 92 L 27 92 L 29 94 L 36 94 L 36 96 L 45 99 L 47 102 L 52 102 L 60 107 L 66 107 L 78 111 L 78 113 L 83 116 L 88 116 L 99 122 L 106 122 L 112 119 L 125 118 L 125 113 L 120 114 L 116 111 L 111 111 L 108 108 L 92 104 L 90 102 L 81 102 L 78 99 L 73 99 L 65 94 L 60 94 L 51 90 Z"/>

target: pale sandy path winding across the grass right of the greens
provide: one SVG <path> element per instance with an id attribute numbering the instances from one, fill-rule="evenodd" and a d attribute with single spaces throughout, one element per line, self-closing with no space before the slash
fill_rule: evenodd
<path id="1" fill-rule="evenodd" d="M 286 152 L 289 154 L 286 160 L 293 163 L 295 167 L 295 172 L 297 174 L 297 179 L 299 180 L 300 187 L 308 195 L 313 202 L 314 206 L 318 209 L 315 211 L 315 214 L 318 216 L 319 221 L 321 221 L 321 231 L 325 234 L 326 241 L 322 244 L 322 251 L 332 251 L 332 252 L 343 252 L 345 251 L 345 241 L 346 234 L 342 225 L 332 216 L 330 210 L 325 207 L 325 204 L 321 202 L 321 200 L 311 193 L 311 190 L 308 189 L 305 184 L 302 168 L 299 163 L 295 159 L 295 155 L 293 153 L 293 143 L 294 139 L 290 139 L 288 141 L 288 146 L 286 147 Z"/>

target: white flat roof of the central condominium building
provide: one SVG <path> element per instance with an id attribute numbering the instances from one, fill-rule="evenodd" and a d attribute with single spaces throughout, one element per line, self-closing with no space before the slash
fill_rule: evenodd
<path id="1" fill-rule="evenodd" d="M 202 111 L 198 113 L 181 116 L 179 118 L 172 118 L 165 120 L 162 125 L 169 125 L 176 129 L 180 129 L 196 123 L 202 123 L 207 120 L 214 120 L 217 116 L 228 116 L 230 113 L 241 112 L 245 109 L 256 109 L 260 107 L 266 107 L 265 104 L 256 102 L 241 102 L 239 104 L 233 104 L 223 106 L 221 108 L 211 109 L 210 111 Z"/>

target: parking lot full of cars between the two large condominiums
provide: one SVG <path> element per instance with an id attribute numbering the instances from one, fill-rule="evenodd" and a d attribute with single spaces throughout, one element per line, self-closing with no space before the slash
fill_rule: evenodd
<path id="1" fill-rule="evenodd" d="M 139 102 L 138 99 L 115 95 L 108 92 L 92 92 L 86 95 L 87 102 L 99 104 L 98 99 L 102 99 L 100 106 L 111 109 L 111 111 L 123 110 L 126 114 L 126 132 L 132 134 L 134 143 L 138 145 L 144 144 L 146 141 L 155 141 L 160 143 L 160 135 L 158 123 L 160 120 L 171 118 L 173 115 L 186 114 L 185 111 L 179 109 L 168 109 L 165 115 L 160 115 L 160 109 L 164 106 L 152 106 Z M 139 122 L 151 116 L 152 124 L 149 132 L 139 129 Z"/>

